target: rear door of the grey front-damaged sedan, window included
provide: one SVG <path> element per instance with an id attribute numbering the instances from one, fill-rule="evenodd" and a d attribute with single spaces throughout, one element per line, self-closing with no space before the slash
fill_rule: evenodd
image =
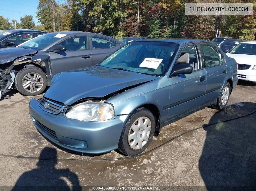
<path id="1" fill-rule="evenodd" d="M 120 45 L 115 41 L 99 36 L 91 36 L 91 45 L 93 65 L 100 63 L 106 56 L 120 48 Z"/>

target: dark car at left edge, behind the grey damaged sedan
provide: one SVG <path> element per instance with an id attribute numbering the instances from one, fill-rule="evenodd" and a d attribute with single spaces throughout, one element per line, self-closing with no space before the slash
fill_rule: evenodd
<path id="1" fill-rule="evenodd" d="M 21 43 L 45 33 L 47 32 L 28 29 L 0 30 L 0 48 L 18 46 Z"/>

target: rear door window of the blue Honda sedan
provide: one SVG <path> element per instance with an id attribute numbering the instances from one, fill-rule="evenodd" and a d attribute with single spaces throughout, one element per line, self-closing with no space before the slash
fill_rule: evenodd
<path id="1" fill-rule="evenodd" d="M 221 63 L 217 48 L 213 45 L 204 43 L 201 44 L 201 47 L 204 53 L 204 64 L 206 68 L 219 65 Z"/>

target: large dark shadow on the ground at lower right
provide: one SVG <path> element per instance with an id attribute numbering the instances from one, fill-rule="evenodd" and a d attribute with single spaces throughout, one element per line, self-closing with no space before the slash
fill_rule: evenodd
<path id="1" fill-rule="evenodd" d="M 233 104 L 212 116 L 209 124 L 251 113 L 255 108 L 251 102 Z M 256 189 L 255 124 L 253 113 L 204 128 L 207 135 L 199 170 L 208 191 Z"/>

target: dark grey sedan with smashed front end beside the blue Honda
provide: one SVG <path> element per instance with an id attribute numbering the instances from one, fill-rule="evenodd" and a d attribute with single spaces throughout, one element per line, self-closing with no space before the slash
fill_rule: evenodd
<path id="1" fill-rule="evenodd" d="M 65 31 L 0 49 L 0 91 L 8 91 L 14 82 L 23 95 L 41 94 L 53 75 L 96 65 L 123 45 L 101 34 Z"/>

